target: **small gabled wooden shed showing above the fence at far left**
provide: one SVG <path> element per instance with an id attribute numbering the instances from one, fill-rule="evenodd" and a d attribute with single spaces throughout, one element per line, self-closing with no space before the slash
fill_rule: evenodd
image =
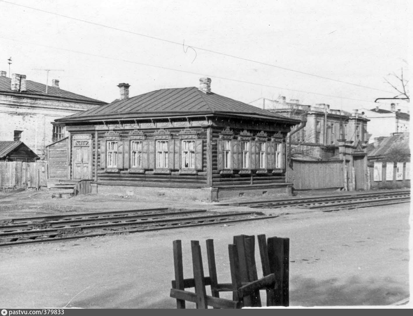
<path id="1" fill-rule="evenodd" d="M 36 162 L 40 157 L 23 142 L 0 141 L 0 161 Z"/>

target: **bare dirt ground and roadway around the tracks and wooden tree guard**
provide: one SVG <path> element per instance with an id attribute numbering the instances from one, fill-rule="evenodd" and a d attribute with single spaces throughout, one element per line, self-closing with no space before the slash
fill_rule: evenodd
<path id="1" fill-rule="evenodd" d="M 301 192 L 297 197 L 332 193 L 337 192 Z M 215 204 L 100 195 L 57 199 L 42 190 L 3 192 L 0 220 L 154 207 L 251 210 Z M 409 204 L 329 213 L 290 208 L 264 213 L 279 217 L 2 247 L 0 301 L 7 308 L 175 308 L 169 297 L 173 240 L 182 240 L 184 276 L 190 278 L 190 240 L 200 241 L 205 257 L 205 240 L 214 239 L 218 281 L 224 283 L 230 282 L 227 247 L 232 237 L 262 233 L 290 238 L 291 306 L 383 306 L 409 296 Z M 256 261 L 261 262 L 258 251 Z M 258 270 L 262 275 L 261 266 Z M 228 293 L 221 297 L 230 298 Z"/>

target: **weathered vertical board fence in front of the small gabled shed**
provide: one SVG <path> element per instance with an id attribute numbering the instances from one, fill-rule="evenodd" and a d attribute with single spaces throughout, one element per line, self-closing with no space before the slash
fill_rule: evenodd
<path id="1" fill-rule="evenodd" d="M 47 162 L 0 162 L 0 188 L 40 188 L 47 185 Z"/>

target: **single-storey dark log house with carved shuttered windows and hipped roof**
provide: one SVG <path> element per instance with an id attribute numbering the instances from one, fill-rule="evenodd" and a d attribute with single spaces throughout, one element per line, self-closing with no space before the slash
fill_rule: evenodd
<path id="1" fill-rule="evenodd" d="M 56 120 L 69 131 L 69 179 L 93 180 L 94 192 L 200 200 L 291 190 L 285 138 L 298 120 L 212 93 L 210 78 L 135 97 L 119 88 L 120 100 Z"/>

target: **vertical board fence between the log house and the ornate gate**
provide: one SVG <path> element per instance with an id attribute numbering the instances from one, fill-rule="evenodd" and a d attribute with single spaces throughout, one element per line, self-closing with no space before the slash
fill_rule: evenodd
<path id="1" fill-rule="evenodd" d="M 291 160 L 286 181 L 295 190 L 341 188 L 344 185 L 343 162 Z"/>

